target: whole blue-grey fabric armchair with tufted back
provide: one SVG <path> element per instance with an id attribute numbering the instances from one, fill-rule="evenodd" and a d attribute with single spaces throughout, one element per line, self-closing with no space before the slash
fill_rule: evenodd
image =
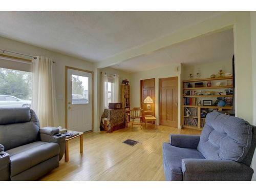
<path id="1" fill-rule="evenodd" d="M 206 116 L 201 136 L 170 135 L 163 143 L 168 181 L 250 181 L 256 130 L 247 121 L 217 112 Z"/>

